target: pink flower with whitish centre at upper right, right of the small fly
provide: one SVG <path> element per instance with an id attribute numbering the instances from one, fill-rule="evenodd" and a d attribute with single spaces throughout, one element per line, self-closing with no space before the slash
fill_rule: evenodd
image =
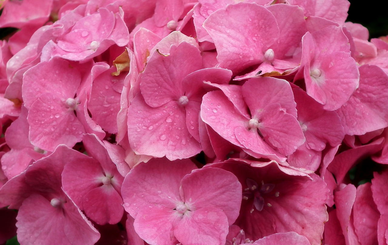
<path id="1" fill-rule="evenodd" d="M 338 45 L 327 42 L 329 38 L 335 39 Z M 359 72 L 347 43 L 342 29 L 335 26 L 306 33 L 302 39 L 301 65 L 309 59 L 304 68 L 307 94 L 329 111 L 345 104 L 359 85 Z M 310 52 L 312 56 L 307 58 Z"/>

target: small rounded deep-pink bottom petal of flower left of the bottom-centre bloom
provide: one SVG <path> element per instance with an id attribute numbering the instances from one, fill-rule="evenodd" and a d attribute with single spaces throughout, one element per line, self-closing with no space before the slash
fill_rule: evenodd
<path id="1" fill-rule="evenodd" d="M 83 196 L 85 214 L 97 224 L 116 224 L 124 214 L 123 199 L 112 185 L 103 185 Z"/>

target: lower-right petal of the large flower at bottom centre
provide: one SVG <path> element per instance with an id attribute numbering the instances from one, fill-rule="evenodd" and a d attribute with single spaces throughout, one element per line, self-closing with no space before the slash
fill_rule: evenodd
<path id="1" fill-rule="evenodd" d="M 229 231 L 227 217 L 222 210 L 206 207 L 186 211 L 176 224 L 174 235 L 182 244 L 225 245 Z"/>

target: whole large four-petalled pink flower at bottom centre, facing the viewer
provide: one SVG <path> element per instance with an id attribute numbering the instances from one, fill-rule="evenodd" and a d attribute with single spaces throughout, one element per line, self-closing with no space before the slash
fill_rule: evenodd
<path id="1" fill-rule="evenodd" d="M 153 159 L 126 175 L 121 193 L 135 231 L 150 244 L 224 245 L 241 205 L 241 184 L 190 160 Z"/>

